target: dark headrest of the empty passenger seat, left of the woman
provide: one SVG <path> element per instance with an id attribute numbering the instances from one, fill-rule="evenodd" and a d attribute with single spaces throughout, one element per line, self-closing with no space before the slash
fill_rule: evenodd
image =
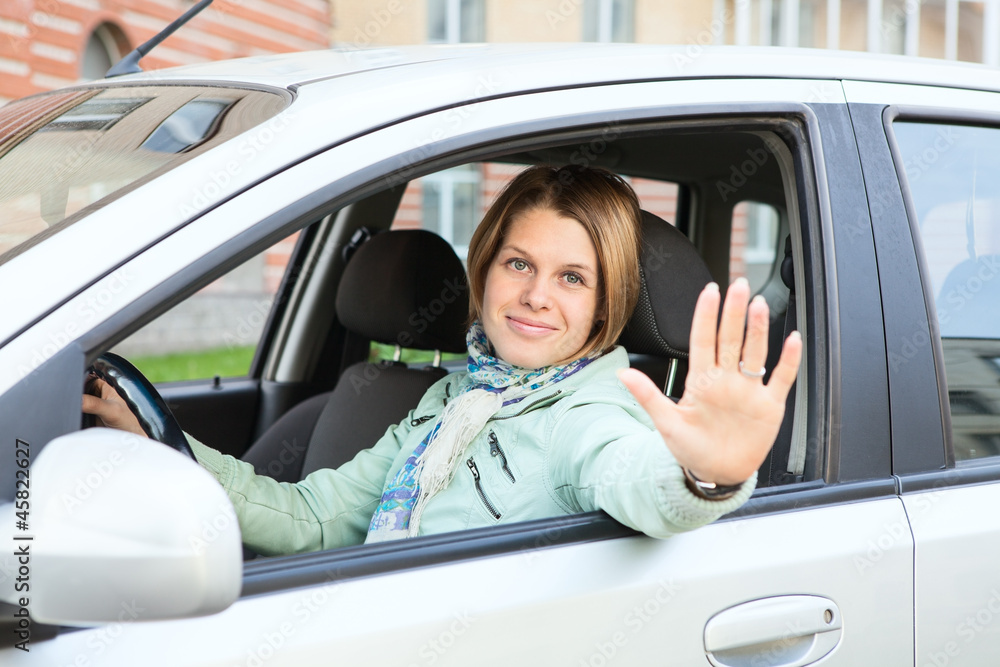
<path id="1" fill-rule="evenodd" d="M 464 352 L 469 288 L 448 242 L 423 229 L 376 234 L 344 268 L 337 317 L 366 338 Z"/>

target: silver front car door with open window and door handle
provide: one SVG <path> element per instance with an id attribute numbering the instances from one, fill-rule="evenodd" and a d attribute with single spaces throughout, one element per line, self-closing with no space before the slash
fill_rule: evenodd
<path id="1" fill-rule="evenodd" d="M 300 99 L 309 94 L 309 86 L 299 91 Z M 203 284 L 220 256 L 227 262 L 248 256 L 366 188 L 394 185 L 462 156 L 565 142 L 567 133 L 591 139 L 608 127 L 742 123 L 748 132 L 787 131 L 774 150 L 794 215 L 797 323 L 807 334 L 792 440 L 805 461 L 796 473 L 802 481 L 762 489 L 734 515 L 668 540 L 588 514 L 251 562 L 243 598 L 224 612 L 141 623 L 132 622 L 141 620 L 135 610 L 117 624 L 40 641 L 30 660 L 517 660 L 596 667 L 704 664 L 706 658 L 718 665 L 801 665 L 824 656 L 824 664 L 857 665 L 877 656 L 882 665 L 912 665 L 913 543 L 890 466 L 872 226 L 857 148 L 845 141 L 852 135 L 840 85 L 620 84 L 479 102 L 460 123 L 452 122 L 453 114 L 414 118 L 324 151 L 148 249 L 129 263 L 135 279 L 114 317 L 95 322 L 40 367 L 37 381 L 18 386 L 19 397 L 75 380 L 62 376 L 65 369 L 81 372 L 85 356 L 149 304 Z M 734 174 L 752 177 L 741 171 L 742 162 L 722 167 L 722 185 L 740 187 L 727 181 Z M 248 219 L 258 222 L 242 229 L 239 221 Z M 195 238 L 200 245 L 191 243 Z M 216 250 L 205 254 L 205 244 Z M 76 305 L 71 301 L 36 324 L 23 344 L 43 327 L 58 326 Z M 58 399 L 59 410 L 78 414 L 75 392 Z M 2 410 L 10 414 L 13 402 L 0 402 Z M 0 659 L 30 664 L 7 647 Z"/>

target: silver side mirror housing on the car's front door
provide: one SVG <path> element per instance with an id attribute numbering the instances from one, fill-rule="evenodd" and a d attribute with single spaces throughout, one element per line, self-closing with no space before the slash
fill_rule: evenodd
<path id="1" fill-rule="evenodd" d="M 239 597 L 235 510 L 190 458 L 95 428 L 50 442 L 29 474 L 27 517 L 18 499 L 0 506 L 15 538 L 0 558 L 0 600 L 32 619 L 92 625 L 123 607 L 141 610 L 136 620 L 200 616 Z"/>

